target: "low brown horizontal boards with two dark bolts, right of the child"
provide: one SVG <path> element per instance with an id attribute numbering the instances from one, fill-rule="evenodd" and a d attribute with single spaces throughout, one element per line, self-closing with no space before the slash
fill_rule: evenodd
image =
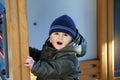
<path id="1" fill-rule="evenodd" d="M 100 78 L 99 60 L 80 62 L 80 80 L 98 80 Z"/>

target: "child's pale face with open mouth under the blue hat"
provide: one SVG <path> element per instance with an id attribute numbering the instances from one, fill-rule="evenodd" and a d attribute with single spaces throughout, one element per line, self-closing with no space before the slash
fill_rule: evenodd
<path id="1" fill-rule="evenodd" d="M 71 41 L 72 41 L 72 37 L 67 33 L 53 32 L 50 35 L 50 42 L 57 50 L 64 48 Z"/>

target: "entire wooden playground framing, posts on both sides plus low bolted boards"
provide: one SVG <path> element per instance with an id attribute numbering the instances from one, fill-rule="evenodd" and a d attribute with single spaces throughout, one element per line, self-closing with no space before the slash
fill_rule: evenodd
<path id="1" fill-rule="evenodd" d="M 9 59 L 6 64 L 9 67 L 6 69 L 7 78 L 30 80 L 30 70 L 24 66 L 24 61 L 29 55 L 26 0 L 5 0 L 5 5 L 6 49 Z M 113 43 L 110 43 L 113 40 L 112 25 L 113 0 L 97 0 L 98 59 L 81 62 L 80 80 L 115 80 L 114 66 L 111 63 L 113 62 Z"/>

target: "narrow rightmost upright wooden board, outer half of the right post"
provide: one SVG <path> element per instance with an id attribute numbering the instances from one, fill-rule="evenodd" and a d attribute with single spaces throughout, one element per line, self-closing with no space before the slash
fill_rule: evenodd
<path id="1" fill-rule="evenodd" d="M 108 0 L 108 80 L 114 79 L 114 0 Z"/>

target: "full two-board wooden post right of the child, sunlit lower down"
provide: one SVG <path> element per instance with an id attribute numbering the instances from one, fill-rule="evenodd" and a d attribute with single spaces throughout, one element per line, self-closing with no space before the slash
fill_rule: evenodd
<path id="1" fill-rule="evenodd" d="M 97 47 L 101 80 L 114 80 L 113 0 L 97 0 Z"/>

